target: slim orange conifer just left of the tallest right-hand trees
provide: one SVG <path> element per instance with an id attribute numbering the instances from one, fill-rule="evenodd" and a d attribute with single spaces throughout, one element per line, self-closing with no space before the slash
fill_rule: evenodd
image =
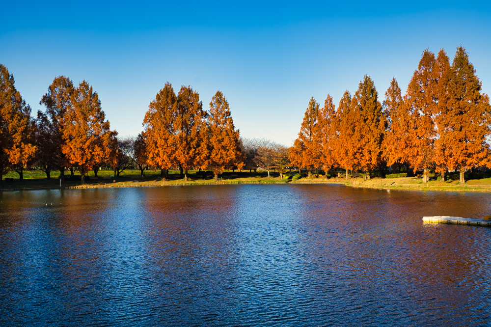
<path id="1" fill-rule="evenodd" d="M 383 141 L 383 156 L 389 166 L 405 164 L 409 168 L 411 143 L 411 117 L 401 95 L 401 88 L 395 78 L 385 91 L 384 115 L 387 131 Z"/>

